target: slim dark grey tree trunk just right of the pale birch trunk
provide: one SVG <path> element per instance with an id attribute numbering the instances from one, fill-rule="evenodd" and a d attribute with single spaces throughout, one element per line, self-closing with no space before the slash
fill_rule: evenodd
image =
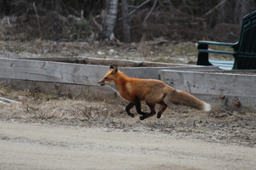
<path id="1" fill-rule="evenodd" d="M 131 43 L 131 31 L 129 25 L 129 14 L 128 14 L 128 4 L 127 0 L 122 0 L 122 18 L 123 18 L 123 32 L 124 32 L 124 42 Z"/>

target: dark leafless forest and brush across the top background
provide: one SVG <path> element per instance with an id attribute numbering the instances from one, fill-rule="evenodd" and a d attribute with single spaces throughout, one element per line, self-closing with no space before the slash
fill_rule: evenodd
<path id="1" fill-rule="evenodd" d="M 255 0 L 0 0 L 0 39 L 236 42 Z"/>

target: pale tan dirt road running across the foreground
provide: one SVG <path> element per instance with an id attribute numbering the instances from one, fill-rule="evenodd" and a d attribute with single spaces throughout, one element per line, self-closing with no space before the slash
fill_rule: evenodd
<path id="1" fill-rule="evenodd" d="M 255 169 L 256 148 L 103 127 L 0 122 L 0 169 Z"/>

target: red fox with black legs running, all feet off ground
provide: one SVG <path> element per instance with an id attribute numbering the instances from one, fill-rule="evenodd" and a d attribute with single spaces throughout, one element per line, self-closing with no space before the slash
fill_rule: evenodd
<path id="1" fill-rule="evenodd" d="M 211 110 L 211 105 L 201 99 L 197 99 L 192 94 L 172 88 L 160 80 L 128 77 L 119 71 L 118 67 L 113 67 L 113 65 L 110 66 L 108 73 L 98 83 L 101 86 L 114 83 L 119 95 L 130 102 L 126 106 L 125 111 L 129 116 L 134 117 L 130 110 L 135 105 L 137 113 L 143 115 L 140 116 L 140 120 L 154 116 L 156 114 L 156 104 L 162 106 L 157 114 L 157 118 L 160 118 L 168 106 L 165 102 L 166 97 L 174 104 L 189 105 L 202 111 Z M 141 100 L 146 100 L 146 104 L 151 110 L 150 113 L 141 110 Z"/>

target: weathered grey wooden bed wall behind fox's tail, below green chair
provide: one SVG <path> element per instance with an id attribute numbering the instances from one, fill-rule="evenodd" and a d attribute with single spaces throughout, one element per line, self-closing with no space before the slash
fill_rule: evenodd
<path id="1" fill-rule="evenodd" d="M 256 71 L 161 70 L 166 84 L 230 110 L 256 111 Z"/>

